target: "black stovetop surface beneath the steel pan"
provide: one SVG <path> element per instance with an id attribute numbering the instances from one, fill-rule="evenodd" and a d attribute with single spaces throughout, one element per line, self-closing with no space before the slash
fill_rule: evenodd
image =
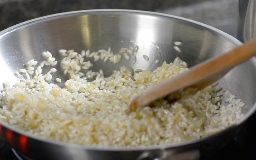
<path id="1" fill-rule="evenodd" d="M 208 160 L 255 160 L 256 159 L 256 114 L 254 113 L 244 127 L 221 151 Z M 0 141 L 0 160 L 20 160 L 12 148 Z M 24 159 L 25 160 L 25 159 Z"/>

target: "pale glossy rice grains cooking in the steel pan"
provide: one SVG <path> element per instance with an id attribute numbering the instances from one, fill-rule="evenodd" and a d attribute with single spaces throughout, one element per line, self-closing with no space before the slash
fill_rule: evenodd
<path id="1" fill-rule="evenodd" d="M 103 71 L 81 69 L 92 67 L 91 59 L 117 63 L 122 54 L 131 62 L 138 47 L 122 48 L 118 54 L 111 49 L 98 52 L 60 50 L 64 74 L 69 74 L 65 88 L 50 83 L 53 72 L 42 74 L 44 65 L 55 66 L 50 52 L 37 67 L 30 60 L 27 69 L 14 72 L 23 78 L 10 87 L 3 84 L 0 119 L 17 128 L 52 140 L 93 146 L 135 147 L 176 143 L 199 139 L 219 132 L 240 119 L 244 103 L 230 91 L 208 86 L 189 99 L 161 107 L 144 107 L 130 113 L 129 103 L 147 88 L 187 71 L 186 62 L 176 58 L 163 63 L 155 71 L 121 67 L 109 77 Z M 138 55 L 137 55 L 138 56 Z M 90 59 L 91 58 L 91 59 Z M 88 78 L 95 77 L 92 82 Z M 60 78 L 55 81 L 61 82 Z M 229 102 L 220 104 L 220 98 Z"/>

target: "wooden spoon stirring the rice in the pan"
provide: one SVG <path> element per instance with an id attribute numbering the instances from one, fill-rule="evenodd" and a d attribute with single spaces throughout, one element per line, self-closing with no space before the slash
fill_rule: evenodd
<path id="1" fill-rule="evenodd" d="M 223 77 L 236 65 L 249 60 L 256 55 L 256 39 L 239 46 L 238 48 L 218 57 L 206 60 L 188 71 L 181 73 L 156 87 L 149 89 L 144 94 L 136 97 L 130 104 L 130 111 L 148 105 L 167 95 L 173 100 L 178 100 L 180 94 L 192 94 L 211 85 Z M 185 92 L 183 92 L 185 91 Z"/>

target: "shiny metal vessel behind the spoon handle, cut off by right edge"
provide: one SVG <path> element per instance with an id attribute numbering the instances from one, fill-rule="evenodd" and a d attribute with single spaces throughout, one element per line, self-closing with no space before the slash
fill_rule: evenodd
<path id="1" fill-rule="evenodd" d="M 241 42 L 247 42 L 256 37 L 256 1 L 239 0 L 238 34 Z"/>

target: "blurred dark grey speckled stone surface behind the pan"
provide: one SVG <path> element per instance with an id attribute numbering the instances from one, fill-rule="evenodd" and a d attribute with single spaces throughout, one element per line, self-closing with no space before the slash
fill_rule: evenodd
<path id="1" fill-rule="evenodd" d="M 0 0 L 0 31 L 54 13 L 107 8 L 163 12 L 221 26 L 236 23 L 237 4 L 238 0 Z"/>

